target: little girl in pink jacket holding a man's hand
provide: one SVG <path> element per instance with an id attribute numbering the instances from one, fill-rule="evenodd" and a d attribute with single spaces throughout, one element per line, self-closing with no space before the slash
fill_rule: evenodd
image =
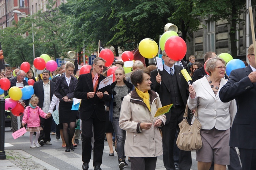
<path id="1" fill-rule="evenodd" d="M 37 106 L 39 99 L 36 95 L 32 95 L 29 106 L 23 112 L 22 126 L 27 124 L 27 132 L 30 132 L 29 140 L 30 140 L 30 148 L 39 147 L 38 138 L 40 136 L 40 130 L 43 130 L 40 127 L 40 117 L 47 119 L 49 117 L 48 114 L 43 112 L 41 108 Z M 35 135 L 35 140 L 33 142 L 33 134 Z"/>

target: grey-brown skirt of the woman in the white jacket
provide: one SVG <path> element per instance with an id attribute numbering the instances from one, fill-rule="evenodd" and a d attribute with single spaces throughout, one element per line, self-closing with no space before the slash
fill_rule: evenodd
<path id="1" fill-rule="evenodd" d="M 218 165 L 229 165 L 229 134 L 227 130 L 200 130 L 202 148 L 197 151 L 197 161 L 209 163 L 214 161 Z"/>

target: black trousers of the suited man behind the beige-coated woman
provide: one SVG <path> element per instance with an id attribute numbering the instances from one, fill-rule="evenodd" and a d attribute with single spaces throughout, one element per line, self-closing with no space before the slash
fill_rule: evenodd
<path id="1" fill-rule="evenodd" d="M 163 164 L 167 170 L 175 170 L 173 159 L 173 144 L 176 129 L 179 129 L 179 123 L 183 119 L 185 107 L 171 108 L 171 119 L 168 124 L 162 128 L 163 135 Z M 190 151 L 182 151 L 179 153 L 180 170 L 190 170 L 192 166 L 192 158 Z"/>

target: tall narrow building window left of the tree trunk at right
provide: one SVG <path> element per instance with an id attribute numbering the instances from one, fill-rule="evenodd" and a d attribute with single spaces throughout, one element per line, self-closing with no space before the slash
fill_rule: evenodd
<path id="1" fill-rule="evenodd" d="M 215 23 L 208 21 L 207 23 L 207 51 L 215 51 Z"/>

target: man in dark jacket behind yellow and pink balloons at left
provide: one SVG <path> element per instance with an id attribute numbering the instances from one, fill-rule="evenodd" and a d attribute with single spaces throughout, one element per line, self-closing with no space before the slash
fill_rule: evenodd
<path id="1" fill-rule="evenodd" d="M 23 70 L 19 70 L 16 74 L 16 77 L 13 77 L 12 79 L 10 79 L 10 83 L 11 83 L 10 88 L 16 86 L 22 89 L 23 87 L 28 86 L 27 81 L 24 80 L 25 76 L 26 76 L 26 73 Z M 7 96 L 7 95 L 8 93 L 7 91 L 5 91 L 4 96 Z M 28 106 L 29 99 L 25 101 L 20 100 L 20 102 L 23 106 Z M 23 118 L 23 115 L 20 116 L 20 124 L 22 122 L 22 118 Z M 13 132 L 16 132 L 18 130 L 18 118 L 17 116 L 13 115 L 12 112 L 11 112 L 11 126 L 12 126 Z"/>

